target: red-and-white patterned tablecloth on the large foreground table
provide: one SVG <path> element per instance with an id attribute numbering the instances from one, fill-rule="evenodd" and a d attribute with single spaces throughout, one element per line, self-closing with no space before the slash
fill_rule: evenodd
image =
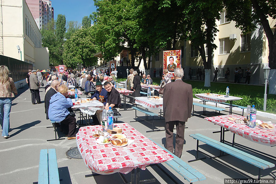
<path id="1" fill-rule="evenodd" d="M 142 170 L 152 163 L 160 163 L 173 159 L 161 147 L 135 130 L 127 123 L 118 123 L 131 145 L 114 147 L 111 144 L 99 145 L 92 137 L 94 130 L 102 130 L 100 125 L 81 127 L 76 134 L 76 142 L 85 165 L 95 173 L 113 174 L 116 172 L 127 174 L 137 167 Z"/>

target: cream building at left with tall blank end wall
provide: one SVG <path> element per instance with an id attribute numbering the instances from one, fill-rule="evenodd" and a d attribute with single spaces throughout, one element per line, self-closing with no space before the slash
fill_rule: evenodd
<path id="1" fill-rule="evenodd" d="M 0 54 L 49 68 L 49 50 L 41 47 L 41 33 L 25 0 L 0 1 Z"/>

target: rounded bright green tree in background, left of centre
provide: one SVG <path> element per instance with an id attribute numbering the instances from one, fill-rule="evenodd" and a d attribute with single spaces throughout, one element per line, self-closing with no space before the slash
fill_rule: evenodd
<path id="1" fill-rule="evenodd" d="M 97 64 L 94 54 L 97 46 L 94 44 L 94 28 L 77 30 L 64 44 L 63 61 L 66 66 L 76 68 L 78 64 L 93 66 Z"/>

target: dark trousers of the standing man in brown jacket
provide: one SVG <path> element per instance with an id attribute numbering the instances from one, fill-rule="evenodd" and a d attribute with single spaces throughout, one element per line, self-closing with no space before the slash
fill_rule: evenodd
<path id="1" fill-rule="evenodd" d="M 183 144 L 184 144 L 185 122 L 181 122 L 181 121 L 166 122 L 166 148 L 167 150 L 173 153 L 174 125 L 176 125 L 175 155 L 181 158 Z"/>

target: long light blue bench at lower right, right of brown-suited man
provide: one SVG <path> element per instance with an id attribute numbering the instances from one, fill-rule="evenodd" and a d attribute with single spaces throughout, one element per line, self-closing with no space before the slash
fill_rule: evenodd
<path id="1" fill-rule="evenodd" d="M 261 169 L 264 170 L 264 169 L 272 168 L 272 167 L 275 166 L 273 163 L 267 162 L 266 160 L 263 160 L 261 158 L 255 157 L 251 154 L 245 153 L 241 150 L 238 150 L 238 149 L 236 149 L 232 146 L 226 145 L 222 142 L 219 142 L 219 141 L 216 141 L 214 139 L 208 138 L 208 137 L 206 137 L 202 134 L 191 134 L 190 137 L 197 140 L 197 143 L 196 143 L 196 159 L 195 160 L 190 160 L 188 162 L 193 162 L 193 161 L 196 161 L 196 160 L 204 159 L 204 158 L 198 158 L 198 152 L 208 156 L 211 159 L 223 156 L 223 154 L 220 153 L 220 156 L 210 157 L 209 155 L 205 154 L 204 152 L 199 151 L 198 150 L 198 141 L 201 141 L 201 142 L 204 142 L 205 144 L 208 144 L 209 146 L 212 146 L 212 147 L 214 147 L 218 150 L 221 150 L 221 151 L 223 151 L 227 154 L 230 154 L 230 155 L 232 155 L 236 158 L 239 158 L 239 159 L 243 160 L 244 162 L 247 162 L 247 163 L 249 163 L 253 166 L 259 167 L 258 180 L 261 178 Z"/>

